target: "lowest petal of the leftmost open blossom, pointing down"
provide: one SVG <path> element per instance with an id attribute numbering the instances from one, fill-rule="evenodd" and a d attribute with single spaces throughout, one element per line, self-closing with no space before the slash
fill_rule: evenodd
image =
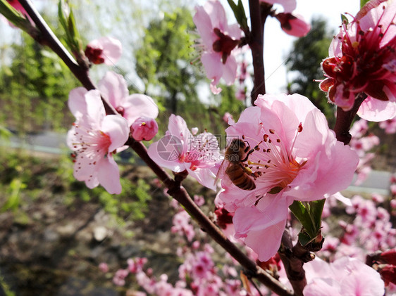
<path id="1" fill-rule="evenodd" d="M 97 178 L 101 186 L 103 186 L 110 194 L 120 194 L 122 187 L 120 184 L 120 170 L 112 155 L 107 155 L 99 164 Z"/>

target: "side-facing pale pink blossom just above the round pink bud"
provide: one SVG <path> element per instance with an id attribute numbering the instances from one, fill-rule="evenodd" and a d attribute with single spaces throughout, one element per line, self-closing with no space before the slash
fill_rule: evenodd
<path id="1" fill-rule="evenodd" d="M 98 83 L 98 89 L 117 112 L 128 120 L 129 126 L 139 117 L 155 119 L 158 116 L 159 110 L 154 100 L 144 94 L 130 95 L 122 75 L 106 72 Z M 155 129 L 155 124 L 152 125 Z"/>

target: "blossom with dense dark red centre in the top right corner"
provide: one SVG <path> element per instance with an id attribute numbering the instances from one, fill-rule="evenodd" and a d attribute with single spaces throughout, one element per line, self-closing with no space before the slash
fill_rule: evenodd
<path id="1" fill-rule="evenodd" d="M 320 87 L 329 101 L 347 111 L 357 94 L 368 97 L 358 115 L 383 121 L 396 115 L 396 2 L 369 1 L 344 23 L 323 60 Z"/>

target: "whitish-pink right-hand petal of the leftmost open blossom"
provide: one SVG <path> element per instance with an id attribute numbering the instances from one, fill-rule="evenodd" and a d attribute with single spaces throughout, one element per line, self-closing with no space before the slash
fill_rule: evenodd
<path id="1" fill-rule="evenodd" d="M 109 146 L 109 153 L 123 146 L 128 140 L 128 122 L 120 115 L 105 116 L 101 123 L 101 131 L 110 136 L 111 145 Z"/>

